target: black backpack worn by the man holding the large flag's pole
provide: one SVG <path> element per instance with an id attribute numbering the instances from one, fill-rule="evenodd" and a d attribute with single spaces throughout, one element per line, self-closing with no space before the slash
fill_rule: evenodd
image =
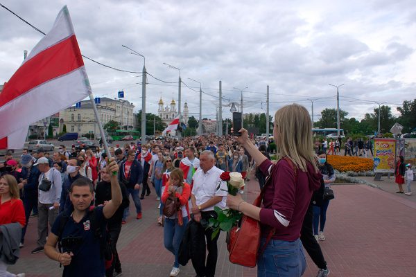
<path id="1" fill-rule="evenodd" d="M 94 232 L 94 235 L 98 240 L 100 240 L 100 258 L 105 260 L 105 269 L 109 269 L 112 265 L 113 261 L 113 253 L 112 247 L 110 242 L 110 235 L 107 230 L 107 225 L 105 229 L 102 230 L 101 226 L 97 223 L 96 220 L 96 208 L 93 206 L 90 207 L 91 209 L 88 211 L 89 213 L 89 222 L 91 224 L 91 230 Z M 58 249 L 59 252 L 62 253 L 62 233 L 64 231 L 65 225 L 69 220 L 69 215 L 67 213 L 62 213 L 59 222 L 59 229 L 58 229 Z M 61 266 L 61 265 L 60 265 Z"/>

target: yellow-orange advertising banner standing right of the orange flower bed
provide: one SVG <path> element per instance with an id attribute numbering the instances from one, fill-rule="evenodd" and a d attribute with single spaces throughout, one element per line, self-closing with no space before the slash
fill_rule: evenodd
<path id="1" fill-rule="evenodd" d="M 395 157 L 395 139 L 374 139 L 374 172 L 394 173 Z"/>

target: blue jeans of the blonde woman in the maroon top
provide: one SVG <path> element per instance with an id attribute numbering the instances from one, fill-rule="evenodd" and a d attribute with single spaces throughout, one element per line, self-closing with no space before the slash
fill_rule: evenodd
<path id="1" fill-rule="evenodd" d="M 261 239 L 261 245 L 266 239 Z M 300 239 L 293 242 L 270 240 L 266 250 L 257 258 L 258 277 L 302 276 L 306 269 L 306 259 Z"/>

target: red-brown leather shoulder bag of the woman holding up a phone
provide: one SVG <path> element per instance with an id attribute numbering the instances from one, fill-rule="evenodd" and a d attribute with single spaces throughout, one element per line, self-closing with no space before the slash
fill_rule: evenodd
<path id="1" fill-rule="evenodd" d="M 295 172 L 295 178 L 297 177 L 297 170 L 293 165 L 291 159 L 284 158 L 293 168 Z M 253 205 L 260 207 L 265 192 L 266 186 L 270 184 L 271 176 L 277 168 L 276 165 L 272 165 L 270 174 L 266 178 L 263 189 L 260 195 L 254 200 Z M 255 267 L 257 264 L 257 257 L 263 253 L 266 249 L 270 239 L 275 234 L 275 229 L 272 229 L 268 233 L 266 243 L 260 248 L 261 229 L 260 222 L 254 220 L 252 217 L 243 215 L 239 226 L 234 226 L 227 233 L 227 249 L 229 252 L 229 261 L 236 265 L 242 265 L 243 267 Z"/>

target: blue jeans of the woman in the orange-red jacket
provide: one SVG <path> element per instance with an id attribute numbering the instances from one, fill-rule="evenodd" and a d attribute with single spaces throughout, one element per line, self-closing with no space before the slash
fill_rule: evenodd
<path id="1" fill-rule="evenodd" d="M 188 217 L 184 217 L 184 224 L 179 226 L 177 219 L 171 219 L 165 217 L 164 229 L 163 229 L 163 240 L 164 247 L 171 251 L 175 256 L 175 262 L 173 267 L 179 268 L 179 247 L 182 242 L 182 237 L 187 229 Z"/>

